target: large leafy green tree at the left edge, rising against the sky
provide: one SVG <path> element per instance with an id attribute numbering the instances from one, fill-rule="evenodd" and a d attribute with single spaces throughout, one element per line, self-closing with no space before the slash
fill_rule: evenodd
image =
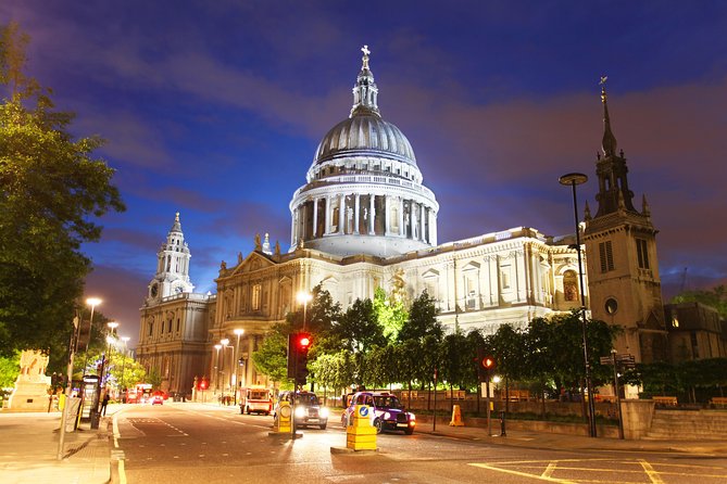
<path id="1" fill-rule="evenodd" d="M 0 29 L 0 354 L 50 349 L 61 370 L 75 302 L 91 268 L 80 252 L 98 241 L 93 219 L 124 211 L 114 170 L 93 157 L 101 139 L 74 140 L 73 115 L 23 73 L 29 39 Z"/>

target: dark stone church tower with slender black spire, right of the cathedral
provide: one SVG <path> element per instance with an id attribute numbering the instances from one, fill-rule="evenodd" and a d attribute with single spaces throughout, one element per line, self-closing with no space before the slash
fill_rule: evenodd
<path id="1" fill-rule="evenodd" d="M 656 232 L 643 196 L 641 211 L 634 207 L 624 151 L 617 151 L 611 129 L 605 77 L 602 153 L 597 156 L 598 212 L 591 217 L 586 204 L 584 243 L 588 289 L 594 319 L 619 326 L 616 351 L 637 361 L 667 359 L 662 286 L 656 259 Z"/>

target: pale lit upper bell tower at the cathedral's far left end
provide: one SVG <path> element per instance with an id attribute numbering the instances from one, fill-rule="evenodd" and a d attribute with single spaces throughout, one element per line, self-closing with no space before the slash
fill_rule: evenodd
<path id="1" fill-rule="evenodd" d="M 166 243 L 156 253 L 156 275 L 149 283 L 147 302 L 159 301 L 174 294 L 192 292 L 195 286 L 189 280 L 189 259 L 191 254 L 181 233 L 179 213 L 174 217 L 174 225 L 166 235 Z"/>

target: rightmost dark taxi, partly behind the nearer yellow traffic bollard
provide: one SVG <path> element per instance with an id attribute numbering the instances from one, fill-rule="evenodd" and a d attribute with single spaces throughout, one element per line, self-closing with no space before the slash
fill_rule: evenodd
<path id="1" fill-rule="evenodd" d="M 356 392 L 351 397 L 349 406 L 343 410 L 341 424 L 346 426 L 355 411 L 356 405 L 373 407 L 371 424 L 376 428 L 376 433 L 384 430 L 401 430 L 406 435 L 414 433 L 416 416 L 406 411 L 396 395 L 388 392 Z"/>

